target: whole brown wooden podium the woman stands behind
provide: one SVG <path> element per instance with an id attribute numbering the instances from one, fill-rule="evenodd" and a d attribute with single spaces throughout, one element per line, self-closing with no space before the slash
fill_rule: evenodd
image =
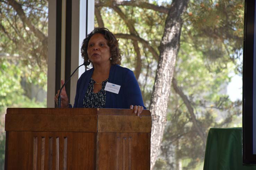
<path id="1" fill-rule="evenodd" d="M 151 114 L 8 108 L 5 170 L 150 170 Z"/>

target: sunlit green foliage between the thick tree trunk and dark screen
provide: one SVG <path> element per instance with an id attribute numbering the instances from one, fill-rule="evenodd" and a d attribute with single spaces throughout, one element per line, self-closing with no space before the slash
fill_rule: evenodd
<path id="1" fill-rule="evenodd" d="M 191 1 L 183 17 L 174 77 L 189 98 L 205 138 L 212 127 L 241 126 L 241 100 L 230 101 L 225 91 L 230 73 L 241 73 L 243 8 L 242 1 Z M 162 155 L 175 152 L 182 169 L 196 168 L 204 161 L 205 143 L 174 90 L 169 110 Z"/>

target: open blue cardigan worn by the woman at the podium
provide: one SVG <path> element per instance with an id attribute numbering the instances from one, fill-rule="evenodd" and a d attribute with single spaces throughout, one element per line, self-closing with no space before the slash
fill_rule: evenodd
<path id="1" fill-rule="evenodd" d="M 83 100 L 94 68 L 86 70 L 78 79 L 74 107 L 83 107 Z M 109 83 L 120 85 L 119 93 L 106 91 L 105 108 L 130 108 L 130 105 L 144 106 L 142 94 L 133 71 L 119 65 L 112 65 Z"/>

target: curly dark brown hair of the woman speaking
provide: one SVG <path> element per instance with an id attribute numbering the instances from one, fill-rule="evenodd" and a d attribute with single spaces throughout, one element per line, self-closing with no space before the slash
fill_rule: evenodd
<path id="1" fill-rule="evenodd" d="M 107 28 L 95 28 L 90 34 L 88 34 L 86 36 L 86 38 L 83 40 L 82 43 L 82 47 L 81 47 L 81 53 L 82 53 L 82 57 L 85 61 L 85 65 L 88 66 L 91 61 L 89 60 L 88 54 L 87 54 L 87 49 L 88 49 L 88 43 L 89 40 L 91 39 L 91 37 L 94 34 L 103 34 L 105 39 L 108 41 L 108 46 L 109 46 L 109 50 L 110 50 L 110 55 L 112 60 L 110 60 L 111 64 L 121 64 L 121 59 L 122 59 L 122 53 L 119 49 L 118 46 L 118 40 L 116 39 L 116 37 L 114 36 L 114 34 L 112 32 L 110 32 Z"/>

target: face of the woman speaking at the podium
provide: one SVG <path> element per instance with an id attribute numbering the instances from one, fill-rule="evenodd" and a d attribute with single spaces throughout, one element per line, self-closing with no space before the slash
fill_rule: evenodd
<path id="1" fill-rule="evenodd" d="M 94 34 L 88 43 L 87 54 L 93 64 L 110 63 L 108 41 L 103 34 Z"/>

